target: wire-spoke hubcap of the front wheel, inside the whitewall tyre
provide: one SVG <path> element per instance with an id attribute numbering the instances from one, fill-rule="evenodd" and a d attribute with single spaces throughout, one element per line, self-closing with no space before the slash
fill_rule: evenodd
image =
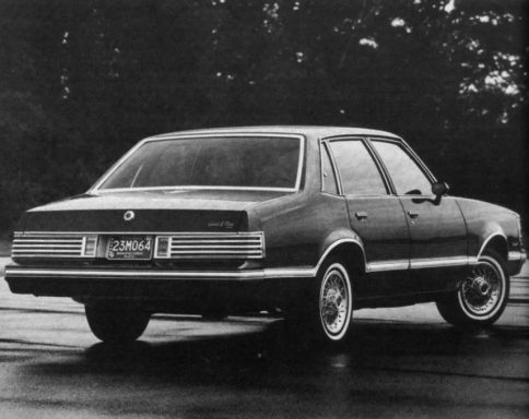
<path id="1" fill-rule="evenodd" d="M 487 315 L 496 309 L 503 294 L 503 276 L 487 261 L 480 261 L 462 283 L 460 296 L 465 307 L 474 315 Z"/>

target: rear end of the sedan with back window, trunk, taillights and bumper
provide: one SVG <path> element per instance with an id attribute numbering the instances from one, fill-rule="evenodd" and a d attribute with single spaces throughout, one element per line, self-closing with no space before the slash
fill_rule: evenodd
<path id="1" fill-rule="evenodd" d="M 86 194 L 25 214 L 5 279 L 13 292 L 153 311 L 262 308 L 264 234 L 249 214 L 299 190 L 304 151 L 293 134 L 140 142 Z"/>

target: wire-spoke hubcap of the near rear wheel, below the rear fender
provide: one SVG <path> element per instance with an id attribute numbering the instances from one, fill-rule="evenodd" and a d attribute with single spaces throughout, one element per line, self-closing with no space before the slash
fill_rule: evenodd
<path id="1" fill-rule="evenodd" d="M 329 270 L 321 284 L 320 316 L 324 327 L 331 335 L 338 335 L 349 322 L 350 289 L 344 274 Z"/>

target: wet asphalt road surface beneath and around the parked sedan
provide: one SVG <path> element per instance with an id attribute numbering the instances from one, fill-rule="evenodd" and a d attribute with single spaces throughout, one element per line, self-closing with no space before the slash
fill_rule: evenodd
<path id="1" fill-rule="evenodd" d="M 0 418 L 529 417 L 528 304 L 473 334 L 433 304 L 355 316 L 332 349 L 259 318 L 155 316 L 141 342 L 108 346 L 81 306 L 0 278 Z"/>

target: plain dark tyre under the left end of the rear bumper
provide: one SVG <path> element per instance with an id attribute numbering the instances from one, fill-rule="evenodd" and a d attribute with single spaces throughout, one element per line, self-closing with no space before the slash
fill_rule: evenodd
<path id="1" fill-rule="evenodd" d="M 151 314 L 130 304 L 94 303 L 84 307 L 93 334 L 103 342 L 126 343 L 138 339 Z"/>

